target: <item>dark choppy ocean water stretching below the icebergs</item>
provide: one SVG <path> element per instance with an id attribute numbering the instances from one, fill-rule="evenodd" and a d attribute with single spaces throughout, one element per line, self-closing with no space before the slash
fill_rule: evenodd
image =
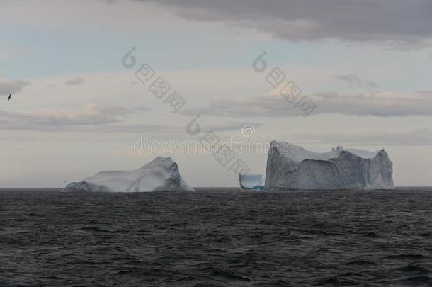
<path id="1" fill-rule="evenodd" d="M 0 190 L 0 286 L 432 286 L 432 188 Z"/>

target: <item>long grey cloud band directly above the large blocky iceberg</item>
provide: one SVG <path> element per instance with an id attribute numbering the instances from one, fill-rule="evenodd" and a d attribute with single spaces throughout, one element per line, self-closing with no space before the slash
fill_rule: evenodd
<path id="1" fill-rule="evenodd" d="M 432 116 L 432 91 L 408 95 L 390 95 L 387 92 L 341 96 L 337 92 L 309 95 L 317 104 L 311 116 L 320 113 L 337 113 L 348 116 Z M 183 114 L 197 113 L 209 116 L 241 117 L 290 117 L 301 116 L 294 103 L 288 103 L 280 95 L 241 97 L 215 101 L 203 108 L 188 109 Z"/>

